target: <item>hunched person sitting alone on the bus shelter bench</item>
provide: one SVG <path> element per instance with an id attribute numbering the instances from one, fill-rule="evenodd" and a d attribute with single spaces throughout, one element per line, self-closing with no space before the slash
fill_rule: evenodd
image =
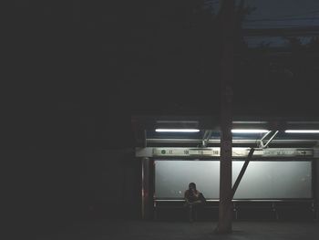
<path id="1" fill-rule="evenodd" d="M 203 194 L 196 189 L 195 183 L 189 184 L 189 189 L 185 191 L 184 193 L 185 198 L 185 206 L 189 208 L 189 218 L 190 222 L 193 220 L 193 214 L 196 214 L 196 210 L 194 208 L 198 208 L 199 206 L 202 206 L 206 200 L 203 196 Z M 193 211 L 193 209 L 195 211 Z"/>

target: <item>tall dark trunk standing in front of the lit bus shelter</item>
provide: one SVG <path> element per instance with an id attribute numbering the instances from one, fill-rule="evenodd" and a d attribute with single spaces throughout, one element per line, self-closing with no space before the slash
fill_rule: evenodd
<path id="1" fill-rule="evenodd" d="M 234 1 L 223 0 L 221 24 L 221 183 L 218 234 L 232 232 L 232 80 L 234 68 Z"/>

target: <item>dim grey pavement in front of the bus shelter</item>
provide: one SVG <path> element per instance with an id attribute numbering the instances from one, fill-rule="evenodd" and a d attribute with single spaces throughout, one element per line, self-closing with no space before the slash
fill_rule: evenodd
<path id="1" fill-rule="evenodd" d="M 216 235 L 217 222 L 143 222 L 143 221 L 96 221 L 77 223 L 52 235 L 37 237 L 38 240 L 71 239 L 128 239 L 128 240 L 279 240 L 319 239 L 318 222 L 233 222 L 233 232 Z"/>

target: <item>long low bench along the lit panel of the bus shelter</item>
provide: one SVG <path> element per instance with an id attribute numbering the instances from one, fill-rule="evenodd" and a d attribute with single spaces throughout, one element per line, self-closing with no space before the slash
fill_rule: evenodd
<path id="1" fill-rule="evenodd" d="M 186 219 L 183 199 L 154 199 L 154 220 L 159 219 L 161 211 L 182 214 Z M 218 219 L 219 200 L 207 199 L 200 219 Z M 235 220 L 287 220 L 287 219 L 318 219 L 315 201 L 310 200 L 232 200 L 232 212 Z M 185 213 L 183 215 L 183 213 Z M 203 217 L 202 215 L 206 215 Z M 196 217 L 195 217 L 196 218 Z"/>

